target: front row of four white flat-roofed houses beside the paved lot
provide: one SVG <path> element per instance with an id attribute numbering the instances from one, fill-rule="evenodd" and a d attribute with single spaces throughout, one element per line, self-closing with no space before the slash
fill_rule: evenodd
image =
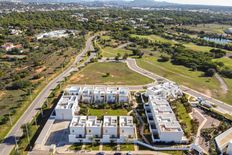
<path id="1" fill-rule="evenodd" d="M 127 143 L 135 138 L 132 116 L 120 116 L 119 121 L 118 116 L 104 116 L 103 122 L 96 116 L 75 116 L 69 124 L 70 143 Z"/>

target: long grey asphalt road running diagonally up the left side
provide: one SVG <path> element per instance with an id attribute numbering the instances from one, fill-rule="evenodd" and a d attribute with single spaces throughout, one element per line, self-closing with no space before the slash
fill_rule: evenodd
<path id="1" fill-rule="evenodd" d="M 92 40 L 94 36 L 90 37 L 86 41 L 86 47 L 81 51 L 81 53 L 76 57 L 72 65 L 66 68 L 61 74 L 54 78 L 51 82 L 47 84 L 46 87 L 39 93 L 39 95 L 33 100 L 31 105 L 27 108 L 24 114 L 20 117 L 14 127 L 10 130 L 6 136 L 4 142 L 0 144 L 0 154 L 7 155 L 10 154 L 11 150 L 15 146 L 15 137 L 22 135 L 21 126 L 27 122 L 30 122 L 36 113 L 40 110 L 43 103 L 46 101 L 47 97 L 51 93 L 52 89 L 59 85 L 60 81 L 63 81 L 65 77 L 69 76 L 70 73 L 76 70 L 76 65 L 83 59 L 84 55 L 93 49 Z"/>

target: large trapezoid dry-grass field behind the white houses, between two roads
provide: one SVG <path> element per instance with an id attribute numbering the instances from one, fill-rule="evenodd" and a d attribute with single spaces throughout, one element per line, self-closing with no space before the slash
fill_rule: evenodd
<path id="1" fill-rule="evenodd" d="M 110 75 L 106 77 L 106 73 Z M 71 84 L 105 85 L 143 85 L 151 82 L 151 79 L 131 71 L 125 63 L 117 62 L 89 64 L 69 80 Z"/>

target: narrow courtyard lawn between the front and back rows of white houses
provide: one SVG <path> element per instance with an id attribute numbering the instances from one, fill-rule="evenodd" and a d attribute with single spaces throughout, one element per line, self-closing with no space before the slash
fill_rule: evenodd
<path id="1" fill-rule="evenodd" d="M 97 117 L 103 117 L 103 116 L 125 116 L 127 115 L 127 110 L 125 109 L 88 109 L 88 115 L 89 116 L 97 116 Z"/>

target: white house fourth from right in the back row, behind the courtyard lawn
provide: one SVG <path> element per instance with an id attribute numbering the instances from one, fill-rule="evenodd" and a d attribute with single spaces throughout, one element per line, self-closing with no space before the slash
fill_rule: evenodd
<path id="1" fill-rule="evenodd" d="M 83 103 L 93 103 L 94 89 L 91 86 L 84 87 L 82 90 L 81 101 Z"/>

